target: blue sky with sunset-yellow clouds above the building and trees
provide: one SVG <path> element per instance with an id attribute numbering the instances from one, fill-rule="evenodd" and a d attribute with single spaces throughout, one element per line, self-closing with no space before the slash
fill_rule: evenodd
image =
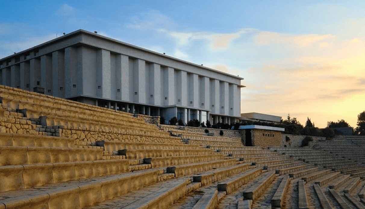
<path id="1" fill-rule="evenodd" d="M 365 110 L 365 1 L 0 1 L 0 57 L 78 29 L 243 77 L 241 113 Z"/>

